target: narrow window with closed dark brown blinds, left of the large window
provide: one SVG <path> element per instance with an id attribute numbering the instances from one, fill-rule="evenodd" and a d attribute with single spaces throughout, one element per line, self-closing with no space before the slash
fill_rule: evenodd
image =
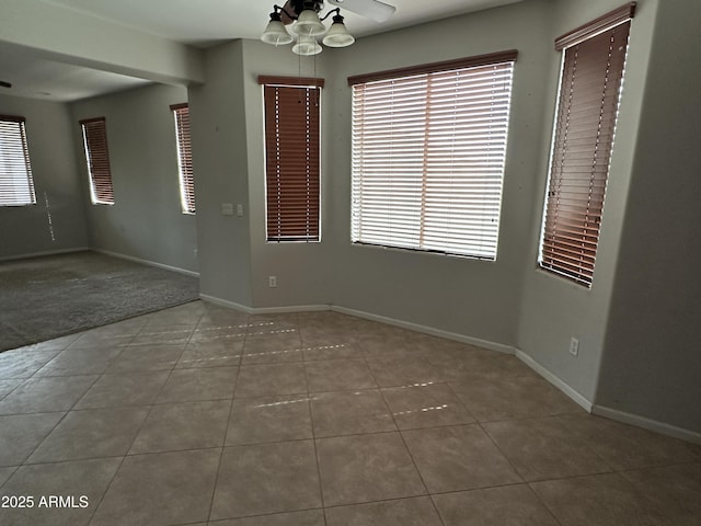
<path id="1" fill-rule="evenodd" d="M 319 241 L 323 80 L 260 77 L 265 100 L 266 237 Z"/>

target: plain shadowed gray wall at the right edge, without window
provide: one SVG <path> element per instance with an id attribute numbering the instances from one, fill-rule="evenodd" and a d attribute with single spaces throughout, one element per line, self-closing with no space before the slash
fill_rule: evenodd
<path id="1" fill-rule="evenodd" d="M 660 2 L 597 404 L 701 432 L 701 2 Z"/>

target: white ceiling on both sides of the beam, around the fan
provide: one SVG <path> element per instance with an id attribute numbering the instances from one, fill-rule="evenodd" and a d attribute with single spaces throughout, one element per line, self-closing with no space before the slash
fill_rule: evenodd
<path id="1" fill-rule="evenodd" d="M 234 38 L 257 38 L 276 0 L 42 0 L 82 14 L 197 47 Z M 277 0 L 283 4 L 285 0 Z M 345 0 L 350 4 L 353 0 Z M 343 10 L 348 31 L 356 37 L 406 27 L 522 0 L 383 0 L 397 7 L 384 23 Z M 324 12 L 331 8 L 326 4 Z M 88 44 L 89 45 L 89 44 Z M 110 71 L 46 59 L 26 48 L 2 42 L 0 80 L 13 88 L 0 94 L 72 101 L 148 82 Z"/>

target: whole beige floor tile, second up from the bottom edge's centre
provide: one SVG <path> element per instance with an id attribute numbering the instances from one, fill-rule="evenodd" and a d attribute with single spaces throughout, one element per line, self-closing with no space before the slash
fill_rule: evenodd
<path id="1" fill-rule="evenodd" d="M 317 439 L 326 506 L 426 493 L 399 433 Z"/>

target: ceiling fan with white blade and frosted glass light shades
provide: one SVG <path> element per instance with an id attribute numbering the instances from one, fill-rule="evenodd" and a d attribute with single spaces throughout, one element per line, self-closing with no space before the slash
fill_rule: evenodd
<path id="1" fill-rule="evenodd" d="M 395 11 L 397 8 L 380 0 L 329 0 L 335 9 L 330 10 L 320 18 L 319 13 L 324 7 L 323 0 L 287 0 L 285 5 L 274 5 L 271 13 L 271 21 L 261 35 L 261 39 L 267 44 L 281 46 L 291 44 L 295 38 L 285 28 L 291 26 L 292 33 L 298 35 L 297 43 L 292 46 L 292 52 L 297 55 L 317 55 L 322 47 L 317 42 L 317 37 L 323 36 L 323 44 L 329 47 L 346 47 L 355 42 L 348 33 L 341 8 L 354 13 L 367 16 L 376 22 L 384 22 Z M 333 24 L 326 31 L 322 24 L 332 13 Z"/>

